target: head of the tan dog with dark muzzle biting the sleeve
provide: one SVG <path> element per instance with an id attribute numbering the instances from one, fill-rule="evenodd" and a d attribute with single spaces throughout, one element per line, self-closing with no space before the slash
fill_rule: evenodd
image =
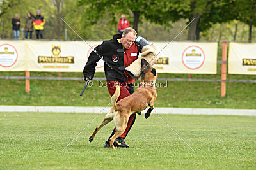
<path id="1" fill-rule="evenodd" d="M 156 82 L 156 69 L 152 68 L 143 58 L 141 59 L 141 81 Z"/>

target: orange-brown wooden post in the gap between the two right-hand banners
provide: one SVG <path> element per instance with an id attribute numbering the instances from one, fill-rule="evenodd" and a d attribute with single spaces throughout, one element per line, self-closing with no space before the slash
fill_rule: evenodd
<path id="1" fill-rule="evenodd" d="M 222 61 L 227 61 L 227 42 L 222 43 Z M 227 80 L 227 63 L 221 64 L 221 80 Z M 226 96 L 226 82 L 221 81 L 221 97 Z"/>

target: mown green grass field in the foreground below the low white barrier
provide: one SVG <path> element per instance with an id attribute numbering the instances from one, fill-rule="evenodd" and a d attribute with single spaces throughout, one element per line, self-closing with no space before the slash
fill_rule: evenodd
<path id="1" fill-rule="evenodd" d="M 137 116 L 130 148 L 103 147 L 113 122 L 89 143 L 104 115 L 61 152 L 95 114 L 0 113 L 0 169 L 256 169 L 256 117 L 161 115 L 193 152 L 156 114 Z"/>

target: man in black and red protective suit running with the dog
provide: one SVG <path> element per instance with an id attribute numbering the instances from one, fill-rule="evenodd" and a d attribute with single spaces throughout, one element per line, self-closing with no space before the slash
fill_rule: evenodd
<path id="1" fill-rule="evenodd" d="M 113 36 L 113 39 L 103 41 L 101 45 L 98 45 L 95 50 L 104 59 L 104 71 L 107 79 L 108 91 L 111 96 L 115 93 L 115 81 L 118 81 L 120 85 L 120 99 L 130 96 L 133 92 L 132 83 L 135 82 L 129 74 L 124 71 L 126 66 L 129 66 L 138 59 L 138 54 L 141 52 L 140 45 L 137 45 L 134 41 L 136 38 L 136 31 L 131 27 L 125 29 L 122 35 L 117 34 Z M 84 67 L 84 80 L 92 80 L 95 73 L 96 62 L 100 60 L 97 53 L 92 52 L 88 58 L 88 61 Z M 106 64 L 108 63 L 108 64 Z M 110 66 L 110 67 L 109 67 Z M 125 143 L 124 139 L 134 124 L 136 114 L 131 115 L 129 118 L 127 128 L 124 134 L 116 139 L 114 145 L 117 147 L 126 147 L 129 145 Z M 115 134 L 116 129 L 114 128 L 109 139 Z M 110 147 L 109 139 L 106 141 L 104 147 Z"/>

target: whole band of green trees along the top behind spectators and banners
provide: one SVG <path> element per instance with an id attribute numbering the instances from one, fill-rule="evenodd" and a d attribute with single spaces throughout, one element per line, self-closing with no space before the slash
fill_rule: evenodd
<path id="1" fill-rule="evenodd" d="M 195 10 L 191 10 L 191 2 L 196 2 Z M 256 38 L 252 31 L 256 23 L 253 2 L 255 0 L 120 0 L 114 3 L 109 0 L 0 0 L 0 38 L 12 38 L 11 20 L 15 13 L 19 13 L 21 28 L 24 28 L 28 12 L 35 15 L 39 9 L 46 21 L 45 39 L 64 39 L 64 30 L 68 27 L 60 17 L 84 39 L 110 39 L 117 33 L 120 14 L 125 13 L 131 25 L 137 25 L 141 36 L 150 41 L 170 41 L 193 18 L 193 12 L 200 11 L 197 23 L 183 31 L 176 41 L 186 40 L 192 34 L 194 39 L 244 41 L 248 39 L 248 32 L 250 39 Z M 79 39 L 71 30 L 69 33 L 72 39 Z"/>

